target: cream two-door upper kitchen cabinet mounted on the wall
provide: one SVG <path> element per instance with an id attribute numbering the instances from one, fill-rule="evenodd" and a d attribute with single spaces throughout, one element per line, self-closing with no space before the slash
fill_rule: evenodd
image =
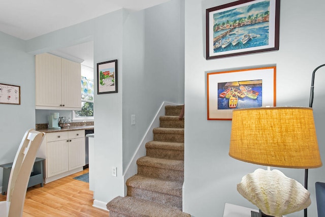
<path id="1" fill-rule="evenodd" d="M 49 53 L 36 55 L 36 108 L 81 109 L 81 66 Z"/>

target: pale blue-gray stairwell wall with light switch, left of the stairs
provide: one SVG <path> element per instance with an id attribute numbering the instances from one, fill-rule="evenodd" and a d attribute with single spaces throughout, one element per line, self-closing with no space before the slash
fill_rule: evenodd
<path id="1" fill-rule="evenodd" d="M 184 102 L 183 1 L 128 15 L 123 26 L 123 168 L 162 102 Z M 131 126 L 131 115 L 136 125 Z"/>

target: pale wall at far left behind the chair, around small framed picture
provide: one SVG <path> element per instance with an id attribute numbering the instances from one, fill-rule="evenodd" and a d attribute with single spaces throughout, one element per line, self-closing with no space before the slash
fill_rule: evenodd
<path id="1" fill-rule="evenodd" d="M 35 60 L 23 40 L 0 32 L 0 42 L 0 83 L 20 86 L 20 105 L 0 104 L 1 165 L 14 161 L 26 130 L 35 128 Z"/>

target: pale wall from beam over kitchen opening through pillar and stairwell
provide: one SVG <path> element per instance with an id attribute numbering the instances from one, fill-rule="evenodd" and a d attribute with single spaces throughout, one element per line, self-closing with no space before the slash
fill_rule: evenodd
<path id="1" fill-rule="evenodd" d="M 95 75 L 96 63 L 118 60 L 118 92 L 94 95 L 97 206 L 124 196 L 123 169 L 161 103 L 183 102 L 182 4 L 174 0 L 140 12 L 119 10 L 27 42 L 28 52 L 38 54 L 93 41 Z M 135 126 L 131 114 L 136 114 Z"/>

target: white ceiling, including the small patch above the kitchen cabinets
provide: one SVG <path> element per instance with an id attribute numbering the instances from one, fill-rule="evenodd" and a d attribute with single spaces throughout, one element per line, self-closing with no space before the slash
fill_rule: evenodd
<path id="1" fill-rule="evenodd" d="M 170 0 L 0 0 L 0 32 L 29 40 L 101 15 L 127 9 L 138 11 Z M 57 52 L 83 59 L 93 67 L 93 43 Z"/>

